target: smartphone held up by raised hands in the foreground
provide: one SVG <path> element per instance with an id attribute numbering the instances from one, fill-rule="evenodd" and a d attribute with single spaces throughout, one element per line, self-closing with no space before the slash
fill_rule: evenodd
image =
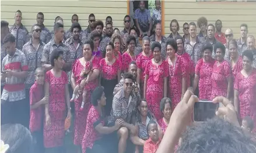
<path id="1" fill-rule="evenodd" d="M 219 104 L 214 104 L 212 101 L 195 102 L 193 111 L 194 122 L 206 122 L 207 119 L 212 119 L 215 117 L 215 112 L 218 108 Z"/>

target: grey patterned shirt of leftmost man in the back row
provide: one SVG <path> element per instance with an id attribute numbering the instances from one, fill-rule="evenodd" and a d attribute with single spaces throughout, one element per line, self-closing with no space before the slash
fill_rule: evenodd
<path id="1" fill-rule="evenodd" d="M 9 31 L 15 37 L 16 48 L 21 50 L 23 45 L 29 40 L 29 32 L 27 31 L 26 27 L 20 24 L 20 26 L 17 28 L 15 24 L 13 24 Z"/>

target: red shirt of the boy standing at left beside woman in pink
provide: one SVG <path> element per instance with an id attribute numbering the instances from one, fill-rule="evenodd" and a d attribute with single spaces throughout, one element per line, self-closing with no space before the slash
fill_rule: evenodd
<path id="1" fill-rule="evenodd" d="M 44 97 L 44 86 L 37 84 L 36 82 L 31 86 L 30 91 L 30 105 L 36 104 Z M 41 130 L 43 120 L 43 106 L 39 106 L 36 109 L 30 109 L 30 122 L 29 129 L 31 132 Z"/>

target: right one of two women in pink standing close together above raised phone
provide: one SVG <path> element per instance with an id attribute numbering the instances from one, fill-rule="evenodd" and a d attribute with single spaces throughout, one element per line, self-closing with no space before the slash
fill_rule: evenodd
<path id="1" fill-rule="evenodd" d="M 226 48 L 220 42 L 217 42 L 214 46 L 216 62 L 212 68 L 211 82 L 212 93 L 211 100 L 218 96 L 231 98 L 232 86 L 232 72 L 229 62 L 225 61 L 224 56 Z"/>

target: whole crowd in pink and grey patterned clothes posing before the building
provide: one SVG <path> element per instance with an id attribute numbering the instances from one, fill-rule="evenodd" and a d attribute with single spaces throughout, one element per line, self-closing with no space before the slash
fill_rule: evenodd
<path id="1" fill-rule="evenodd" d="M 137 13 L 143 9 L 141 1 Z M 104 25 L 90 14 L 82 30 L 73 15 L 68 31 L 57 16 L 52 32 L 43 13 L 36 20 L 30 33 L 20 10 L 10 28 L 1 21 L 1 125 L 27 127 L 36 152 L 64 152 L 70 119 L 78 152 L 156 152 L 188 87 L 201 100 L 226 97 L 242 129 L 255 131 L 256 50 L 247 24 L 234 40 L 220 20 L 214 26 L 205 17 L 184 23 L 183 36 L 171 20 L 167 38 L 149 17 L 153 35 L 132 28 L 129 15 L 122 31 L 111 16 Z"/>

